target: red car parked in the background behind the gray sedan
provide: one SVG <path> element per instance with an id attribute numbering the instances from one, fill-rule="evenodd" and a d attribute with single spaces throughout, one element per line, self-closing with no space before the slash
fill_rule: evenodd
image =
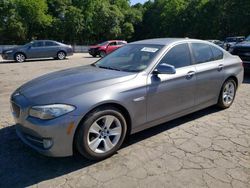
<path id="1" fill-rule="evenodd" d="M 89 54 L 93 57 L 96 57 L 98 55 L 100 57 L 104 57 L 125 44 L 127 44 L 127 42 L 124 40 L 109 40 L 95 46 L 90 46 Z"/>

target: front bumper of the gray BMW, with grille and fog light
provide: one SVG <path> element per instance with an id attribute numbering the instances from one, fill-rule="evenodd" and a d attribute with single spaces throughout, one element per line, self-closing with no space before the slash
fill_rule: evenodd
<path id="1" fill-rule="evenodd" d="M 12 99 L 12 103 L 15 108 L 13 116 L 18 137 L 25 144 L 46 156 L 73 155 L 74 133 L 79 123 L 79 117 L 66 114 L 52 120 L 33 118 L 28 116 L 29 107 L 22 101 L 27 102 L 25 97 L 20 95 L 17 98 L 19 99 L 14 99 L 14 101 Z"/>

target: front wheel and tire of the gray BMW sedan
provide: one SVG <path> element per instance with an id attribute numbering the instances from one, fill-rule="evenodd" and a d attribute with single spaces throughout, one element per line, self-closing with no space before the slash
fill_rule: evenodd
<path id="1" fill-rule="evenodd" d="M 113 107 L 97 108 L 79 126 L 75 137 L 76 149 L 95 161 L 112 156 L 122 145 L 127 132 L 124 116 Z"/>

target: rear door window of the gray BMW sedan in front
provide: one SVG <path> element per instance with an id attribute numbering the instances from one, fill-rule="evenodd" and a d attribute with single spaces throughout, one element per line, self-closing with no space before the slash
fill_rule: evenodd
<path id="1" fill-rule="evenodd" d="M 208 44 L 192 43 L 192 51 L 196 64 L 214 60 L 212 50 Z"/>

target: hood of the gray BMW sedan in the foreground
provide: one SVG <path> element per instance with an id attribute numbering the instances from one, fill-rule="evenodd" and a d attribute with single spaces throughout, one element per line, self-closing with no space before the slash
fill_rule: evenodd
<path id="1" fill-rule="evenodd" d="M 102 89 L 135 77 L 135 73 L 82 66 L 53 72 L 22 85 L 18 90 L 31 101 L 57 102 Z"/>

